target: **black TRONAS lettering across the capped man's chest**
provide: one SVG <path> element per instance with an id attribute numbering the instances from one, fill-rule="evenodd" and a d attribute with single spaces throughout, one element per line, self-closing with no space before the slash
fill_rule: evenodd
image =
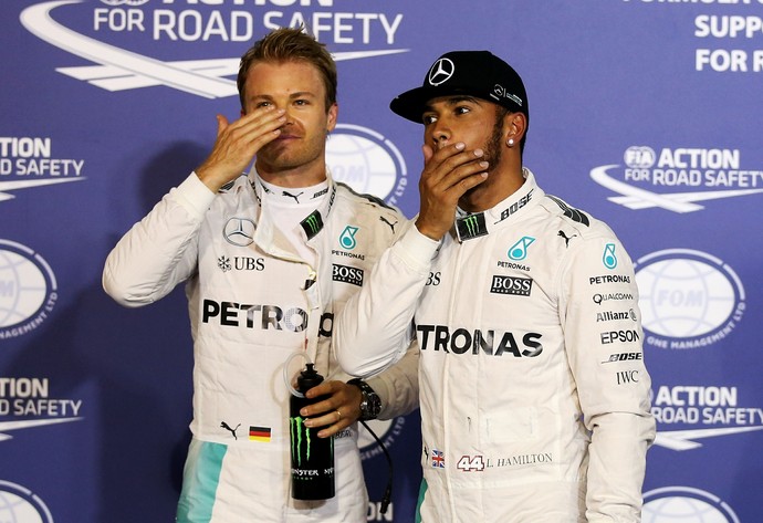
<path id="1" fill-rule="evenodd" d="M 452 354 L 471 354 L 478 356 L 484 353 L 488 356 L 503 356 L 511 354 L 514 357 L 535 357 L 543 352 L 540 333 L 525 333 L 518 343 L 513 333 L 495 333 L 495 331 L 482 332 L 479 328 L 468 331 L 456 328 L 452 334 L 446 325 L 417 325 L 421 351 L 442 351 Z"/>

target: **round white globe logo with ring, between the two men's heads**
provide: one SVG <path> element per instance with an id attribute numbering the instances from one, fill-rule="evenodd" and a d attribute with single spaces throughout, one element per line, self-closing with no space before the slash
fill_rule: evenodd
<path id="1" fill-rule="evenodd" d="M 395 144 L 359 125 L 336 125 L 326 142 L 326 164 L 336 181 L 393 206 L 399 206 L 408 185 L 406 163 Z"/>

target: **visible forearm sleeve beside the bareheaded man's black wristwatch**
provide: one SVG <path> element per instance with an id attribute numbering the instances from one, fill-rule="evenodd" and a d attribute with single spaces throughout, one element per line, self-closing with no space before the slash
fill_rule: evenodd
<path id="1" fill-rule="evenodd" d="M 378 419 L 393 419 L 419 406 L 419 347 L 416 339 L 395 365 L 366 383 L 382 400 Z"/>

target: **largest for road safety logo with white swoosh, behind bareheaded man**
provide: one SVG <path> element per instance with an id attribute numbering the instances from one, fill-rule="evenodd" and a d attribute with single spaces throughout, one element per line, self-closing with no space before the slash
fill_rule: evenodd
<path id="1" fill-rule="evenodd" d="M 312 13 L 312 20 L 310 17 L 305 20 L 305 14 L 300 12 L 293 13 L 291 19 L 284 19 L 283 10 L 265 11 L 262 13 L 262 19 L 255 21 L 253 13 L 245 10 L 212 10 L 210 12 L 192 9 L 181 11 L 155 9 L 144 11 L 140 6 L 146 1 L 109 0 L 101 3 L 101 7 L 93 9 L 94 31 L 128 33 L 150 39 L 150 45 L 155 46 L 161 41 L 250 42 L 254 39 L 255 24 L 262 25 L 257 28 L 258 33 L 279 27 L 304 24 L 312 28 L 315 36 L 321 41 L 323 41 L 321 36 L 333 36 L 337 44 L 351 44 L 356 41 L 368 44 L 373 39 L 384 39 L 387 44 L 391 44 L 403 21 L 403 14 L 399 13 L 394 15 L 393 20 L 389 20 L 385 13 L 349 13 L 352 17 L 347 19 L 348 13 L 324 11 Z M 269 2 L 276 7 L 289 3 L 284 3 L 283 0 L 269 0 Z M 54 9 L 82 3 L 82 0 L 46 1 L 31 6 L 21 12 L 21 23 L 32 34 L 51 45 L 98 64 L 59 67 L 58 72 L 107 91 L 165 85 L 207 98 L 238 95 L 236 81 L 224 76 L 238 74 L 239 57 L 163 61 L 79 33 L 56 22 L 51 15 Z M 222 0 L 215 3 L 220 4 Z M 234 1 L 236 6 L 242 3 L 240 0 Z M 265 3 L 268 2 L 264 0 L 255 2 L 257 6 Z M 333 4 L 333 2 L 328 3 Z M 104 4 L 108 7 L 103 7 Z M 88 6 L 84 8 L 87 9 Z M 327 19 L 333 21 L 333 25 Z M 321 34 L 321 31 L 324 31 L 324 34 Z M 334 53 L 334 59 L 336 61 L 368 59 L 407 51 L 407 49 L 347 51 Z"/>

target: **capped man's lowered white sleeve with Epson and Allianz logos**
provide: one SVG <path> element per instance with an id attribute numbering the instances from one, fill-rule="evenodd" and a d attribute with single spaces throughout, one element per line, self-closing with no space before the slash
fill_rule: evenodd
<path id="1" fill-rule="evenodd" d="M 614 253 L 606 266 L 605 253 Z M 567 358 L 590 432 L 586 519 L 639 522 L 655 421 L 633 263 L 614 236 L 587 239 L 571 252 L 561 283 Z"/>

